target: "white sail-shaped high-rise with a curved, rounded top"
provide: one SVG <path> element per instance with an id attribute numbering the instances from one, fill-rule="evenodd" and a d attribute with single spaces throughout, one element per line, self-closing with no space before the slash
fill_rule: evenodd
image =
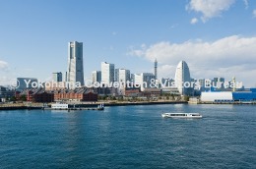
<path id="1" fill-rule="evenodd" d="M 191 87 L 188 84 L 191 84 L 189 68 L 185 61 L 180 61 L 176 68 L 175 85 L 181 95 L 190 94 Z"/>

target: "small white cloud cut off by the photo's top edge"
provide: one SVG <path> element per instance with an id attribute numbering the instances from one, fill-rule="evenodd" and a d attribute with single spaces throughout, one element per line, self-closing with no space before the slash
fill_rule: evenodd
<path id="1" fill-rule="evenodd" d="M 221 16 L 222 12 L 229 9 L 235 0 L 190 0 L 187 10 L 202 13 L 202 21 Z"/>

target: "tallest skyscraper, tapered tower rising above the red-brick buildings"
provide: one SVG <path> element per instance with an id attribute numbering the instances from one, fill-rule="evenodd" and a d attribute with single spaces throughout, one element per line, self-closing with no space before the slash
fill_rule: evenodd
<path id="1" fill-rule="evenodd" d="M 84 85 L 83 42 L 72 41 L 68 44 L 67 82 Z"/>

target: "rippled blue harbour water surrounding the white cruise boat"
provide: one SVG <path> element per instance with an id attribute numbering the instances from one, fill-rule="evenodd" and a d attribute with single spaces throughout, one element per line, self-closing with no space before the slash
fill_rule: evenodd
<path id="1" fill-rule="evenodd" d="M 162 112 L 203 118 L 163 119 Z M 256 168 L 256 107 L 0 111 L 0 168 Z"/>

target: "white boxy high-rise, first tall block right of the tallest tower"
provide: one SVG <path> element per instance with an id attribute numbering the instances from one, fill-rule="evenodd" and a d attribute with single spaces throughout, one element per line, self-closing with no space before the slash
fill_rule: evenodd
<path id="1" fill-rule="evenodd" d="M 114 82 L 114 64 L 101 62 L 101 83 Z"/>

